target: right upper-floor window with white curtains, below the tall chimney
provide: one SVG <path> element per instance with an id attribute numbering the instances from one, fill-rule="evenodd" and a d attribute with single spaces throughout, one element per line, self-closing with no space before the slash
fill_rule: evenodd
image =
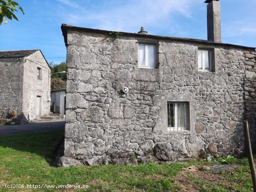
<path id="1" fill-rule="evenodd" d="M 212 71 L 212 51 L 198 49 L 198 71 Z"/>

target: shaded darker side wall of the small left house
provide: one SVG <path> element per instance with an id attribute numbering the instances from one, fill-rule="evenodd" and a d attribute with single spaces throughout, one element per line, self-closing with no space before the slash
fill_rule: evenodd
<path id="1" fill-rule="evenodd" d="M 0 59 L 0 119 L 10 108 L 22 112 L 23 59 Z"/>

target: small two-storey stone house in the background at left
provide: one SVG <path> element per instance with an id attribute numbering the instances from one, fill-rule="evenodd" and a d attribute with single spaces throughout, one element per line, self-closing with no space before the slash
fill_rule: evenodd
<path id="1" fill-rule="evenodd" d="M 40 50 L 0 51 L 0 115 L 17 109 L 16 121 L 50 113 L 50 68 Z"/>

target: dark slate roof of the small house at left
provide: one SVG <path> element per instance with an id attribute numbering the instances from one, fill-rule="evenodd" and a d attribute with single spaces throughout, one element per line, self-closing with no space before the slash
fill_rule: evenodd
<path id="1" fill-rule="evenodd" d="M 37 51 L 40 51 L 47 65 L 49 66 L 44 54 L 40 49 L 29 49 L 29 50 L 17 50 L 17 51 L 0 51 L 0 58 L 22 58 L 27 57 Z"/>

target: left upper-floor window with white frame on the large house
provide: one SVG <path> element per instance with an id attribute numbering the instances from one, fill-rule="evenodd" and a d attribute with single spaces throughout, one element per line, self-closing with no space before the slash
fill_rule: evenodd
<path id="1" fill-rule="evenodd" d="M 139 67 L 155 68 L 155 46 L 139 44 Z"/>

